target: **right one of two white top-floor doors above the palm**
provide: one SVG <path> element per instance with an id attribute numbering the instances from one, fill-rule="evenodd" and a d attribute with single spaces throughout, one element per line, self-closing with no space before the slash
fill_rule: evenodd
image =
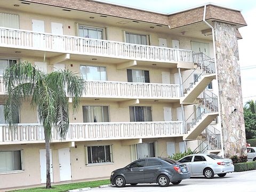
<path id="1" fill-rule="evenodd" d="M 63 25 L 62 23 L 52 22 L 52 34 L 63 35 Z M 53 49 L 63 50 L 63 38 L 61 36 L 53 36 Z"/>

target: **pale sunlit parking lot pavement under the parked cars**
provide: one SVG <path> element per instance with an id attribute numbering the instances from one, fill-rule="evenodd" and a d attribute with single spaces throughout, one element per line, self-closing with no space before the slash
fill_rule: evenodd
<path id="1" fill-rule="evenodd" d="M 156 183 L 153 184 L 138 184 L 137 186 L 126 185 L 124 188 L 108 187 L 108 188 L 93 188 L 90 192 L 107 192 L 107 191 L 124 191 L 124 192 L 162 192 L 175 190 L 175 192 L 222 192 L 222 191 L 256 191 L 256 170 L 247 172 L 228 173 L 226 177 L 220 178 L 215 176 L 213 179 L 205 179 L 204 177 L 192 177 L 181 181 L 179 185 L 170 185 L 169 187 L 159 187 Z"/>

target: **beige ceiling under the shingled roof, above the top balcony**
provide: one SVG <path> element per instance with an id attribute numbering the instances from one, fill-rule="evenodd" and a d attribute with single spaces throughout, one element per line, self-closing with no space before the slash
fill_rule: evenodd
<path id="1" fill-rule="evenodd" d="M 17 4 L 19 7 L 14 7 L 13 5 Z M 131 19 L 125 18 L 118 18 L 112 17 L 109 15 L 105 15 L 107 17 L 100 17 L 102 14 L 85 12 L 85 11 L 78 11 L 78 10 L 71 10 L 70 12 L 63 11 L 63 7 L 55 7 L 37 3 L 30 3 L 22 4 L 22 1 L 19 0 L 9 0 L 9 1 L 1 1 L 1 7 L 5 9 L 11 9 L 16 11 L 22 12 L 31 12 L 35 14 L 42 14 L 42 15 L 52 15 L 54 17 L 63 18 L 65 15 L 66 19 L 75 19 L 76 21 L 83 21 L 88 23 L 88 25 L 95 25 L 97 26 L 115 26 L 115 27 L 122 27 L 123 29 L 134 29 L 134 30 L 142 30 L 148 31 L 148 33 L 162 33 L 165 35 L 175 35 L 175 36 L 184 36 L 184 37 L 194 37 L 194 38 L 201 38 L 201 39 L 208 39 L 211 40 L 212 36 L 205 36 L 202 34 L 202 30 L 208 29 L 204 22 L 197 22 L 192 25 L 183 26 L 175 29 L 169 29 L 168 26 L 156 26 L 156 23 L 149 23 L 149 22 L 133 22 Z M 10 10 L 10 12 L 12 12 Z M 7 12 L 7 10 L 5 10 Z M 94 17 L 94 19 L 90 19 L 90 17 Z M 121 23 L 125 24 L 121 24 Z M 155 27 L 151 29 L 150 27 Z M 185 31 L 185 34 L 182 35 L 182 32 Z"/>

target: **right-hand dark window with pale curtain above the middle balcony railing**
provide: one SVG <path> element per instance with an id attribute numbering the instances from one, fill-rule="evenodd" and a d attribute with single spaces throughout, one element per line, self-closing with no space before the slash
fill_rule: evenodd
<path id="1" fill-rule="evenodd" d="M 150 83 L 148 70 L 127 69 L 127 81 L 134 83 Z"/>

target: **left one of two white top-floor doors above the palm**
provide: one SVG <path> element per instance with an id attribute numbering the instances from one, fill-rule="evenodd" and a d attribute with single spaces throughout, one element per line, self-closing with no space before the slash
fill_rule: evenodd
<path id="1" fill-rule="evenodd" d="M 44 33 L 44 21 L 32 19 L 32 30 L 38 33 Z M 45 35 L 44 34 L 33 34 L 33 45 L 34 47 L 44 48 L 45 47 Z"/>

